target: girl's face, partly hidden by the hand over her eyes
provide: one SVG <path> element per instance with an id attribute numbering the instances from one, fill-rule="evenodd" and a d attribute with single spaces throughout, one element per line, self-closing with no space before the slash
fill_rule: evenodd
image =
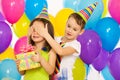
<path id="1" fill-rule="evenodd" d="M 31 31 L 31 39 L 35 43 L 42 42 L 42 41 L 45 40 L 42 36 L 39 35 L 39 33 L 40 33 L 39 32 L 40 27 L 44 27 L 44 24 L 42 22 L 40 22 L 40 21 L 35 21 L 33 23 L 33 25 L 31 26 L 31 29 L 32 29 L 32 31 Z"/>

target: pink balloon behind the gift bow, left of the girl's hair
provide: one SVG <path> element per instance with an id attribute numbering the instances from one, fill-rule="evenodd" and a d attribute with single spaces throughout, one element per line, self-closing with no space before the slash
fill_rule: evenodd
<path id="1" fill-rule="evenodd" d="M 20 49 L 23 45 L 27 45 L 27 37 L 23 36 L 17 40 L 14 46 L 15 55 L 21 53 Z"/>

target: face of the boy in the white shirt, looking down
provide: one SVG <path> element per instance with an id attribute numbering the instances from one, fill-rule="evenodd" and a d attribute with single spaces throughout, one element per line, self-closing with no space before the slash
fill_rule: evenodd
<path id="1" fill-rule="evenodd" d="M 65 37 L 68 40 L 75 40 L 80 32 L 81 26 L 76 23 L 73 17 L 70 17 L 65 28 Z"/>

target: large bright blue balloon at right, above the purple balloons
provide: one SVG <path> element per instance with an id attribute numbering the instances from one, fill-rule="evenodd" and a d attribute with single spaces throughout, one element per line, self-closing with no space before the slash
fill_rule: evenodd
<path id="1" fill-rule="evenodd" d="M 98 21 L 94 30 L 101 38 L 102 48 L 106 51 L 112 51 L 120 37 L 119 24 L 113 18 L 106 17 Z"/>

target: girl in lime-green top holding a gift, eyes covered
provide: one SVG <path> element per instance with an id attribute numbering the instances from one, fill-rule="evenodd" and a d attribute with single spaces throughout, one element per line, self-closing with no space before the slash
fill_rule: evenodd
<path id="1" fill-rule="evenodd" d="M 46 24 L 48 24 L 48 34 L 54 38 L 52 24 L 47 19 L 36 18 L 30 23 L 28 41 L 35 47 L 36 52 L 36 55 L 31 59 L 40 63 L 41 67 L 20 72 L 24 75 L 24 80 L 49 80 L 49 75 L 54 72 L 56 55 L 46 40 L 39 35 L 40 28 L 44 28 Z M 16 63 L 19 65 L 19 62 Z"/>

